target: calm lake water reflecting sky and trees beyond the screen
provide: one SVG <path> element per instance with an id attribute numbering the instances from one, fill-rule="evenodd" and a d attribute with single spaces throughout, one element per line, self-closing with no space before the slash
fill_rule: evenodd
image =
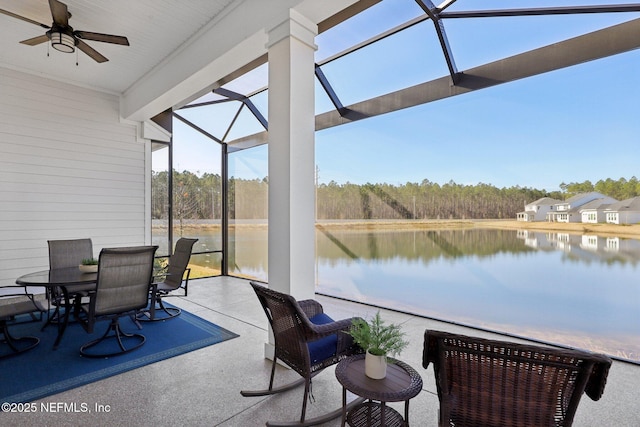
<path id="1" fill-rule="evenodd" d="M 265 280 L 266 230 L 235 273 Z M 640 363 L 640 241 L 512 230 L 319 228 L 317 292 Z"/>

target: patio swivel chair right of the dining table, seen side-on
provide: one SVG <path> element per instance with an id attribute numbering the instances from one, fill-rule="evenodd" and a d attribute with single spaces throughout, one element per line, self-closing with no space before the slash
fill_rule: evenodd
<path id="1" fill-rule="evenodd" d="M 184 296 L 187 296 L 189 289 L 189 276 L 191 269 L 189 259 L 193 245 L 198 239 L 187 239 L 181 237 L 176 242 L 176 248 L 173 255 L 169 257 L 167 264 L 167 276 L 164 281 L 154 283 L 151 286 L 150 305 L 153 309 L 145 309 L 138 313 L 138 320 L 142 321 L 158 321 L 172 319 L 180 315 L 180 309 L 177 307 L 166 307 L 162 302 L 162 298 L 171 296 L 174 291 L 182 289 Z"/>

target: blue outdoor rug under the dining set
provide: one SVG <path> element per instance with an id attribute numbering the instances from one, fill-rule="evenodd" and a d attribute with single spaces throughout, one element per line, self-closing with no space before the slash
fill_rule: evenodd
<path id="1" fill-rule="evenodd" d="M 93 334 L 77 323 L 69 324 L 57 350 L 53 350 L 56 325 L 44 331 L 40 331 L 42 322 L 11 326 L 13 336 L 37 336 L 40 344 L 0 359 L 0 402 L 31 402 L 238 336 L 184 310 L 171 320 L 143 322 L 141 330 L 128 317 L 120 322 L 125 332 L 141 333 L 147 341 L 137 350 L 108 359 L 80 356 L 80 346 L 101 337 L 108 320 L 97 323 Z"/>

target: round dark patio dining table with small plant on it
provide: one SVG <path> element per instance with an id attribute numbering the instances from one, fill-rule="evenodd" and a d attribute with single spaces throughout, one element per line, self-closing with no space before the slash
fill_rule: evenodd
<path id="1" fill-rule="evenodd" d="M 64 318 L 58 319 L 58 335 L 53 344 L 53 348 L 58 348 L 64 332 L 69 324 L 69 313 L 71 312 L 71 301 L 67 291 L 68 286 L 95 284 L 98 279 L 97 273 L 83 273 L 78 267 L 59 268 L 51 270 L 37 271 L 25 274 L 16 279 L 16 284 L 21 286 L 42 286 L 45 288 L 59 288 L 64 298 Z"/>

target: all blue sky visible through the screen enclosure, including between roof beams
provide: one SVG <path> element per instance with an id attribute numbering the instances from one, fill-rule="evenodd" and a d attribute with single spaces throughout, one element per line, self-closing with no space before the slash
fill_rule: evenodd
<path id="1" fill-rule="evenodd" d="M 459 0 L 455 7 L 544 6 L 532 0 L 479 3 Z M 418 14 L 421 11 L 413 0 L 385 0 L 319 35 L 316 59 Z M 639 16 L 448 20 L 445 28 L 458 69 L 464 71 Z M 323 70 L 345 105 L 447 74 L 430 22 L 327 64 Z M 639 76 L 640 50 L 636 50 L 323 130 L 316 133 L 319 182 L 404 184 L 428 179 L 440 184 L 453 180 L 555 191 L 562 182 L 640 177 Z M 316 98 L 318 113 L 330 108 L 319 91 Z M 266 155 L 264 147 L 234 155 L 232 174 L 266 176 Z M 181 169 L 211 171 L 211 163 L 203 156 L 178 153 L 176 161 L 184 165 Z"/>

